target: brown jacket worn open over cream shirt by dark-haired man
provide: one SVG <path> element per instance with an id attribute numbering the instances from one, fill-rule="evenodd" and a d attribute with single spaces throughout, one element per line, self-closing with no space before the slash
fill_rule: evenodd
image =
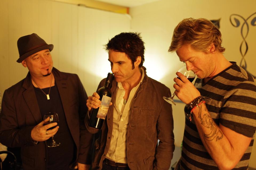
<path id="1" fill-rule="evenodd" d="M 163 100 L 171 96 L 170 89 L 164 84 L 146 75 L 139 86 L 131 106 L 127 130 L 127 161 L 131 170 L 168 170 L 174 151 L 172 107 Z M 103 87 L 103 79 L 98 88 Z M 101 133 L 94 143 L 92 169 L 102 169 L 102 162 L 109 150 L 112 128 L 113 109 L 116 99 L 117 82 L 112 82 L 112 103 L 109 107 L 102 130 L 88 126 L 89 113 L 85 118 L 86 128 L 91 133 Z M 159 145 L 158 145 L 159 140 Z"/>

